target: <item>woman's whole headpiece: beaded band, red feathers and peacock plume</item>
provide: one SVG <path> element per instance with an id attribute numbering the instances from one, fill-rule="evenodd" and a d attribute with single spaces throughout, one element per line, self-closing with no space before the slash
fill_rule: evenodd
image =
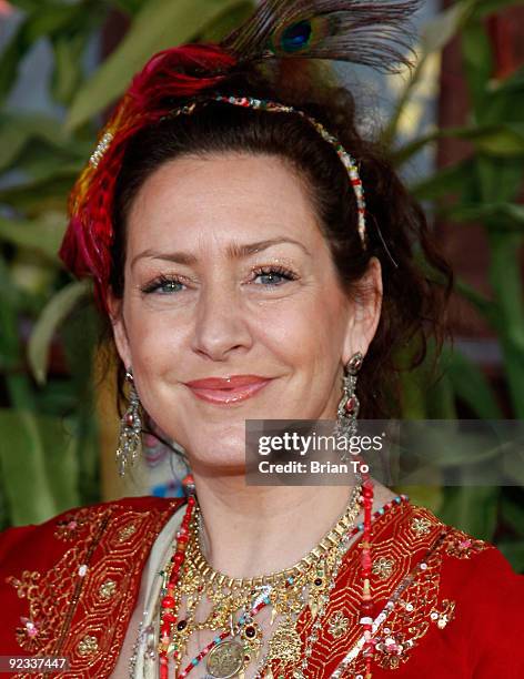
<path id="1" fill-rule="evenodd" d="M 395 72 L 396 64 L 411 63 L 405 55 L 410 49 L 407 19 L 419 2 L 263 0 L 251 19 L 220 44 L 188 44 L 152 57 L 102 130 L 69 200 L 70 221 L 59 254 L 75 276 L 93 278 L 99 306 L 108 311 L 114 188 L 128 143 L 140 130 L 179 109 L 189 113 L 187 107 L 192 104 L 188 100 L 202 97 L 255 110 L 295 113 L 313 125 L 346 168 L 356 199 L 359 235 L 365 247 L 364 192 L 356 162 L 339 140 L 319 121 L 285 103 L 211 92 L 249 67 L 268 61 L 278 67 L 290 58 L 342 60 Z M 276 75 L 278 68 L 272 73 Z"/>

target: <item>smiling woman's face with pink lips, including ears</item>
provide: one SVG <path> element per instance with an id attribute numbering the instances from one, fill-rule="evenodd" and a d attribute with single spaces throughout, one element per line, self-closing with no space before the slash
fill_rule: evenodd
<path id="1" fill-rule="evenodd" d="M 335 418 L 343 363 L 365 354 L 379 322 L 376 259 L 366 277 L 375 295 L 342 292 L 284 161 L 181 158 L 131 206 L 124 295 L 109 297 L 117 346 L 143 407 L 193 468 L 243 470 L 246 419 Z M 234 376 L 232 391 L 220 382 Z"/>

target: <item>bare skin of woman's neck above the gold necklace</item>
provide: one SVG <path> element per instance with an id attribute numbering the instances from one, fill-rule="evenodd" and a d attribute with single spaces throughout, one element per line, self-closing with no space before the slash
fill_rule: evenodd
<path id="1" fill-rule="evenodd" d="M 208 563 L 233 578 L 290 568 L 336 524 L 353 486 L 246 486 L 243 475 L 193 472 Z M 377 487 L 379 486 L 379 487 Z M 375 508 L 394 497 L 375 485 Z M 355 523 L 363 520 L 363 514 Z"/>

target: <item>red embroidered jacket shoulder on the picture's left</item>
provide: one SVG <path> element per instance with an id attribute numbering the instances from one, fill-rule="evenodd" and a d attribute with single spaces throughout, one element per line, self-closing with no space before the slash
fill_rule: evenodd
<path id="1" fill-rule="evenodd" d="M 83 652 L 92 637 L 102 657 L 102 638 L 88 629 L 94 619 L 100 629 L 112 630 L 108 639 L 118 648 L 150 549 L 184 504 L 184 498 L 124 498 L 0 535 L 1 648 L 50 655 L 59 632 L 68 630 L 62 650 L 69 643 L 71 653 L 77 647 Z"/>

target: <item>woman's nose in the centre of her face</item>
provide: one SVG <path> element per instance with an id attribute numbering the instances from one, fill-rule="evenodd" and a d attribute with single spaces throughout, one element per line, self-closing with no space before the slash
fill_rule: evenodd
<path id="1" fill-rule="evenodd" d="M 195 317 L 193 351 L 213 361 L 225 361 L 232 352 L 252 345 L 240 292 L 222 281 L 202 286 Z"/>

